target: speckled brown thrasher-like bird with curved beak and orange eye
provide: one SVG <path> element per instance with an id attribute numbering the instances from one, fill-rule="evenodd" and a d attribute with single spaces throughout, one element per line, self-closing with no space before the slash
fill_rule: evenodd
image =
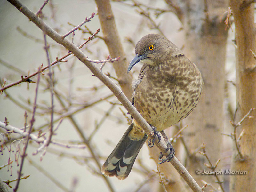
<path id="1" fill-rule="evenodd" d="M 160 163 L 174 157 L 174 148 L 164 129 L 177 124 L 196 107 L 203 92 L 203 78 L 197 66 L 164 36 L 148 34 L 135 45 L 135 57 L 128 66 L 141 63 L 138 79 L 133 82 L 131 102 L 154 130 L 154 139 L 148 140 L 153 147 L 155 140 L 164 137 L 170 155 Z M 105 176 L 119 180 L 128 177 L 135 159 L 148 136 L 132 118 L 132 123 L 102 165 Z M 163 157 L 160 154 L 159 159 Z"/>

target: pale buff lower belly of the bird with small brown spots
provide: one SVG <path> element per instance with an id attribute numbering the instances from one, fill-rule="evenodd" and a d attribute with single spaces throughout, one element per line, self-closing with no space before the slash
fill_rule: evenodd
<path id="1" fill-rule="evenodd" d="M 147 97 L 140 97 L 139 102 L 135 98 L 134 106 L 149 124 L 161 131 L 184 119 L 196 106 L 196 103 L 190 102 L 188 94 L 178 92 L 178 95 L 163 96 L 156 93 L 151 102 Z"/>

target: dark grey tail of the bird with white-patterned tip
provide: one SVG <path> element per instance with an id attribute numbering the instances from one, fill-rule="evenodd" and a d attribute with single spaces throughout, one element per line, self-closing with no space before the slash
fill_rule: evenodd
<path id="1" fill-rule="evenodd" d="M 131 172 L 134 161 L 148 137 L 145 134 L 141 140 L 131 140 L 128 137 L 128 133 L 132 128 L 133 123 L 126 130 L 122 139 L 116 145 L 116 148 L 102 165 L 101 172 L 105 176 L 116 176 L 118 179 L 124 180 Z"/>

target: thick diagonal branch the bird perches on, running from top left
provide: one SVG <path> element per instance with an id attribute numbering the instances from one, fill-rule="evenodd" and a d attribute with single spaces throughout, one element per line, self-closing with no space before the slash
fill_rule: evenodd
<path id="1" fill-rule="evenodd" d="M 153 129 L 146 122 L 146 120 L 140 115 L 140 113 L 136 110 L 132 103 L 125 97 L 124 93 L 121 89 L 114 84 L 111 79 L 108 78 L 97 66 L 93 63 L 90 63 L 86 60 L 86 55 L 78 49 L 72 42 L 68 41 L 66 38 L 63 39 L 60 34 L 50 28 L 46 23 L 44 23 L 40 18 L 36 17 L 36 15 L 31 12 L 24 4 L 22 4 L 18 0 L 8 0 L 11 4 L 13 4 L 20 12 L 26 15 L 29 20 L 34 22 L 40 29 L 45 29 L 46 34 L 51 37 L 54 41 L 59 44 L 62 44 L 68 50 L 70 50 L 81 62 L 84 63 L 92 73 L 100 79 L 117 97 L 117 99 L 124 105 L 127 111 L 133 116 L 133 118 L 138 122 L 138 124 L 145 130 L 146 134 L 149 135 L 150 138 L 153 133 Z M 99 3 L 99 2 L 98 2 Z M 164 141 L 160 140 L 159 143 L 156 143 L 156 146 L 160 149 L 160 151 L 164 154 L 164 156 L 168 157 L 170 154 L 170 150 L 167 150 L 167 146 Z M 192 176 L 188 173 L 186 168 L 180 163 L 180 161 L 174 157 L 170 163 L 174 166 L 174 168 L 179 172 L 181 177 L 187 182 L 189 187 L 193 191 L 200 191 L 202 189 L 196 183 L 196 181 L 192 178 Z"/>

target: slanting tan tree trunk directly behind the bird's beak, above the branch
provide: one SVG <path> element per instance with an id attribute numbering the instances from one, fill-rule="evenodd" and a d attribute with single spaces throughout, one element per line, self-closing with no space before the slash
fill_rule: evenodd
<path id="1" fill-rule="evenodd" d="M 121 57 L 119 61 L 113 63 L 113 66 L 124 95 L 130 99 L 133 92 L 131 87 L 132 75 L 127 74 L 128 62 L 120 37 L 118 36 L 115 18 L 109 0 L 95 0 L 95 2 L 98 7 L 98 15 L 104 41 L 108 47 L 110 56 L 112 58 Z"/>

